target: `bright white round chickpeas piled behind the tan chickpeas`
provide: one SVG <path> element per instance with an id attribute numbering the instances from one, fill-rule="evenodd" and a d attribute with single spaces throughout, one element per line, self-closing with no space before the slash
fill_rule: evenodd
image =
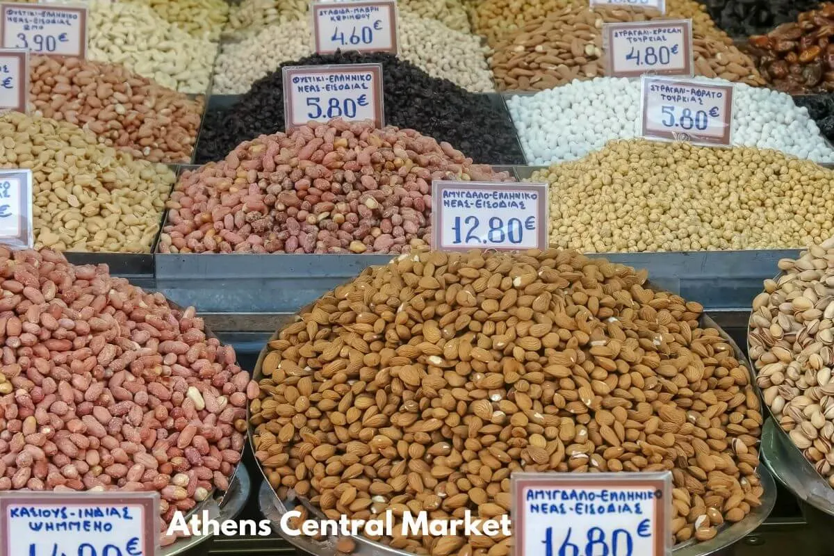
<path id="1" fill-rule="evenodd" d="M 705 83 L 722 79 L 696 78 Z M 640 118 L 639 80 L 574 80 L 532 96 L 508 99 L 525 156 L 530 164 L 559 163 L 584 157 L 611 139 L 635 138 Z M 806 108 L 791 96 L 736 83 L 733 144 L 772 148 L 816 162 L 834 162 Z"/>

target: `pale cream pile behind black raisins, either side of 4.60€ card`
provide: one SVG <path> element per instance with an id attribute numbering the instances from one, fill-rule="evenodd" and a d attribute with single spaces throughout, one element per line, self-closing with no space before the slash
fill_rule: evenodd
<path id="1" fill-rule="evenodd" d="M 282 63 L 312 53 L 307 19 L 270 25 L 222 48 L 214 68 L 214 93 L 245 93 Z M 475 93 L 495 91 L 487 51 L 480 38 L 447 28 L 434 19 L 399 13 L 399 58 L 434 78 L 449 79 Z"/>

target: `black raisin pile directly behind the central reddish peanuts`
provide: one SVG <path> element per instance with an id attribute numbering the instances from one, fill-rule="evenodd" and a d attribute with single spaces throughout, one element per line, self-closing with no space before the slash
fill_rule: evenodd
<path id="1" fill-rule="evenodd" d="M 470 93 L 448 79 L 432 78 L 391 54 L 313 55 L 284 63 L 259 79 L 238 103 L 209 110 L 197 145 L 197 163 L 221 160 L 239 143 L 284 131 L 282 68 L 340 63 L 381 63 L 386 125 L 410 128 L 445 141 L 475 163 L 523 164 L 510 114 L 497 96 Z"/>

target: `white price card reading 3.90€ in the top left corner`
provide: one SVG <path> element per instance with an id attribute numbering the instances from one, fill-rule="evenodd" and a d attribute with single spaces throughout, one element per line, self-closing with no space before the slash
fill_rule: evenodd
<path id="1" fill-rule="evenodd" d="M 0 3 L 0 42 L 3 48 L 84 58 L 87 55 L 87 8 Z"/>

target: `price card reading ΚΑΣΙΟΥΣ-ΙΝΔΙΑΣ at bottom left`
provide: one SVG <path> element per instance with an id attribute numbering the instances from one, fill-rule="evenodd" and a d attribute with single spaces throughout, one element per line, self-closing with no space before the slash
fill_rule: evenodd
<path id="1" fill-rule="evenodd" d="M 153 556 L 159 493 L 0 493 L 0 556 Z"/>

